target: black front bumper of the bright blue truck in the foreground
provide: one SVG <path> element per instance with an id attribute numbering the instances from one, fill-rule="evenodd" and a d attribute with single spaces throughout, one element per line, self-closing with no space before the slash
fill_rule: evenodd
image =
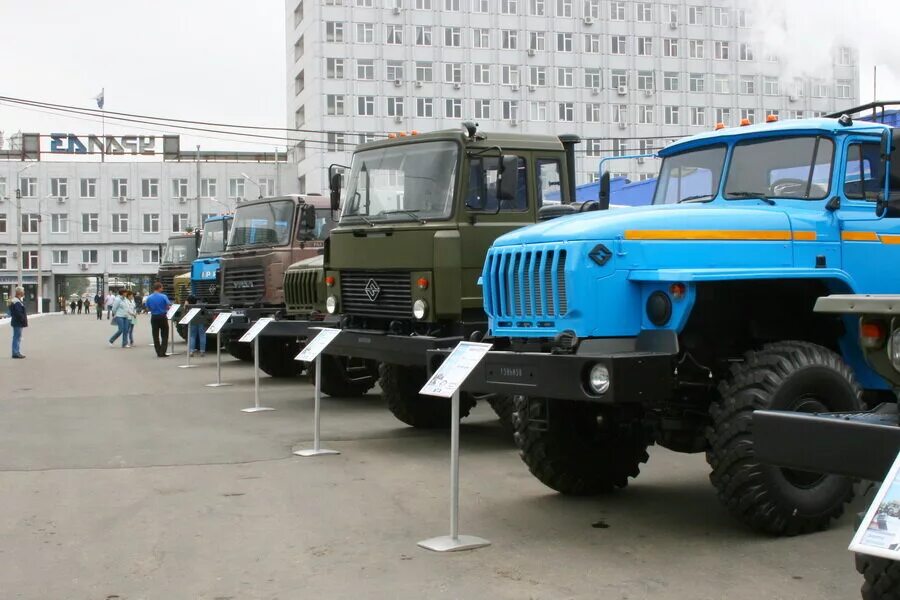
<path id="1" fill-rule="evenodd" d="M 447 354 L 446 351 L 429 353 L 430 370 Z M 667 352 L 592 355 L 491 351 L 472 371 L 462 389 L 600 404 L 652 405 L 672 395 L 672 358 Z M 588 385 L 590 371 L 597 364 L 609 371 L 610 386 L 604 394 L 593 392 Z"/>

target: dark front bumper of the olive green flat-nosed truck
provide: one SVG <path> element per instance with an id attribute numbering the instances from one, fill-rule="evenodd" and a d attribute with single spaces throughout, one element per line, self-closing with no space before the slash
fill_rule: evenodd
<path id="1" fill-rule="evenodd" d="M 329 344 L 325 353 L 333 356 L 354 356 L 392 365 L 424 367 L 430 350 L 453 348 L 461 341 L 461 336 L 390 335 L 345 329 Z"/>

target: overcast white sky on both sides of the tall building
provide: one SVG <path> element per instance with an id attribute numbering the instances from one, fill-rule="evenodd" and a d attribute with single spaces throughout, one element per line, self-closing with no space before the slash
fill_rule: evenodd
<path id="1" fill-rule="evenodd" d="M 747 1 L 761 5 L 762 14 L 784 6 L 784 0 Z M 810 56 L 827 54 L 830 40 L 853 35 L 861 44 L 861 100 L 872 99 L 876 62 L 879 97 L 900 98 L 900 45 L 887 18 L 892 4 L 791 0 L 799 17 L 782 8 L 785 20 L 796 23 L 783 37 L 809 66 Z M 105 88 L 110 111 L 285 126 L 283 0 L 0 0 L 0 24 L 2 96 L 96 108 L 93 97 Z M 138 127 L 107 122 L 106 131 L 150 133 Z M 0 104 L 0 130 L 99 133 L 100 124 Z M 278 145 L 181 135 L 182 149 Z"/>

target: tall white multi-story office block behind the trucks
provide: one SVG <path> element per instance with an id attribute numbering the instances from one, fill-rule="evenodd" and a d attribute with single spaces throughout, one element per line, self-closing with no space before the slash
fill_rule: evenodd
<path id="1" fill-rule="evenodd" d="M 794 78 L 777 55 L 754 46 L 762 36 L 741 6 L 285 0 L 287 117 L 307 138 L 292 151 L 299 189 L 323 192 L 328 166 L 348 164 L 361 141 L 463 119 L 484 130 L 580 135 L 576 171 L 585 182 L 603 156 L 652 151 L 718 122 L 858 104 L 852 48 L 835 48 L 816 78 Z M 632 178 L 656 168 L 613 164 Z"/>

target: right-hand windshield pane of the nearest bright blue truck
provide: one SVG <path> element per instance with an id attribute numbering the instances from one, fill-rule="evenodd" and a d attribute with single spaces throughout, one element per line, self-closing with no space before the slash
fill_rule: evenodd
<path id="1" fill-rule="evenodd" d="M 833 156 L 834 142 L 824 137 L 738 142 L 725 179 L 725 198 L 821 200 L 831 187 Z"/>

